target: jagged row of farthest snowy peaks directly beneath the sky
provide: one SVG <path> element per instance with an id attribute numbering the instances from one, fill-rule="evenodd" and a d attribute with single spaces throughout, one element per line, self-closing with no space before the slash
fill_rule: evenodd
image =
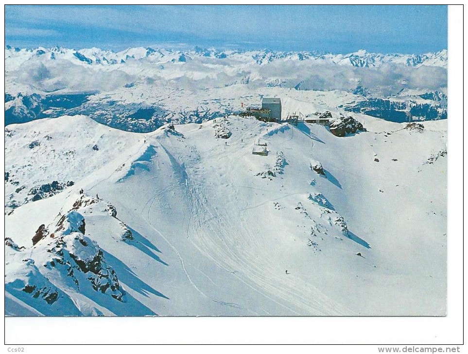
<path id="1" fill-rule="evenodd" d="M 197 58 L 234 59 L 239 62 L 266 64 L 278 60 L 312 61 L 352 65 L 356 67 L 376 67 L 384 63 L 404 64 L 418 67 L 421 65 L 447 67 L 447 49 L 427 54 L 379 54 L 369 53 L 364 49 L 349 54 L 331 54 L 317 51 L 282 52 L 263 50 L 225 50 L 195 47 L 193 50 L 179 51 L 154 48 L 128 48 L 119 52 L 100 48 L 69 49 L 63 47 L 20 49 L 5 47 L 6 58 L 28 60 L 34 56 L 56 60 L 59 58 L 78 60 L 90 65 L 116 65 L 132 60 L 148 60 L 149 62 L 187 62 Z"/>

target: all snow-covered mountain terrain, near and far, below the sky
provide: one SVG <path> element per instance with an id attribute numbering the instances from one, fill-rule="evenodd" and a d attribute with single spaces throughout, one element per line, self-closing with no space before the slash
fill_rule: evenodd
<path id="1" fill-rule="evenodd" d="M 5 312 L 444 315 L 447 101 L 446 50 L 7 46 Z"/>

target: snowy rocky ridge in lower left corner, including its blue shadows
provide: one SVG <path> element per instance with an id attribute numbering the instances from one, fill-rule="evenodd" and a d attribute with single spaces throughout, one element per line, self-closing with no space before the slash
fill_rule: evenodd
<path id="1" fill-rule="evenodd" d="M 132 232 L 116 214 L 115 207 L 102 199 L 81 194 L 69 211 L 60 212 L 51 224 L 37 229 L 33 247 L 23 246 L 16 249 L 16 253 L 10 251 L 12 259 L 25 257 L 25 254 L 30 258 L 26 263 L 6 263 L 8 293 L 42 315 L 154 315 L 144 306 L 139 304 L 138 307 L 131 295 L 122 290 L 118 274 L 106 263 L 105 251 L 88 237 L 102 238 L 94 228 L 98 220 L 111 238 L 134 241 Z M 87 231 L 87 227 L 91 231 Z M 13 242 L 6 240 L 5 243 Z M 22 268 L 17 269 L 21 264 L 24 264 Z M 41 265 L 40 271 L 36 264 Z M 25 268 L 32 271 L 26 272 Z M 18 315 L 22 311 L 27 314 L 29 306 L 17 306 L 9 314 Z M 136 306 L 135 312 L 124 310 L 129 306 Z M 140 312 L 141 308 L 145 310 Z M 122 309 L 123 312 L 119 312 Z"/>

